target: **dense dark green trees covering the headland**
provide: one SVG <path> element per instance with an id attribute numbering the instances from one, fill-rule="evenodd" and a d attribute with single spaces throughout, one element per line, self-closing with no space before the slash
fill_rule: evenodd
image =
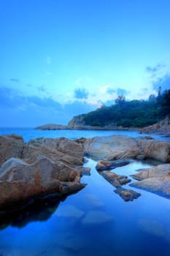
<path id="1" fill-rule="evenodd" d="M 90 126 L 122 126 L 122 127 L 146 127 L 155 124 L 166 116 L 170 116 L 170 90 L 158 97 L 150 95 L 147 101 L 125 101 L 120 96 L 115 99 L 115 105 L 102 106 L 95 111 L 85 114 L 85 124 Z"/>

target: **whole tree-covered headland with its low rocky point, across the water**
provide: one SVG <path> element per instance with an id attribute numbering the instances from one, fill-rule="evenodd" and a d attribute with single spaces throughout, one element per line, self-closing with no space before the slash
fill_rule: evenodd
<path id="1" fill-rule="evenodd" d="M 150 95 L 147 101 L 126 101 L 120 96 L 115 99 L 115 105 L 102 106 L 90 113 L 74 116 L 68 125 L 45 124 L 36 129 L 98 129 L 98 130 L 134 130 L 141 132 L 169 133 L 170 90 L 158 91 L 158 96 Z M 166 121 L 163 121 L 166 118 Z M 158 125 L 155 125 L 158 124 Z M 153 125 L 153 127 L 152 127 Z M 168 126 L 168 128 L 167 128 Z M 148 129 L 144 129 L 149 127 Z M 164 128 L 163 128 L 164 127 Z"/>

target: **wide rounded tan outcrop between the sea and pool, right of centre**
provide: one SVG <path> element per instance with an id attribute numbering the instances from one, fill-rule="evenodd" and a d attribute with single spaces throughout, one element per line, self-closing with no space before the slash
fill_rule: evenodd
<path id="1" fill-rule="evenodd" d="M 82 143 L 85 154 L 93 159 L 156 159 L 170 162 L 170 141 L 129 138 L 125 135 L 89 138 Z"/>

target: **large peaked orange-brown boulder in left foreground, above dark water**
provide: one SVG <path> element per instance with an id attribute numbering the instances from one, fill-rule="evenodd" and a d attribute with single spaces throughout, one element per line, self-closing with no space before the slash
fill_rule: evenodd
<path id="1" fill-rule="evenodd" d="M 39 157 L 33 164 L 21 159 L 11 158 L 0 168 L 0 208 L 20 203 L 32 197 L 58 192 L 60 195 L 70 194 L 85 187 L 73 177 L 74 182 L 62 182 L 60 163 L 47 157 Z M 72 175 L 74 170 L 70 172 Z"/>

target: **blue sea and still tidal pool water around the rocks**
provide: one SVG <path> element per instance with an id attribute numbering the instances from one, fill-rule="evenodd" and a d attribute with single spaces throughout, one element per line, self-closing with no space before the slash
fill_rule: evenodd
<path id="1" fill-rule="evenodd" d="M 128 131 L 0 128 L 0 135 L 14 133 L 22 135 L 26 143 L 39 137 L 144 136 Z M 170 256 L 170 200 L 126 184 L 125 188 L 141 196 L 125 202 L 96 171 L 96 161 L 87 160 L 85 166 L 91 167 L 91 173 L 82 176 L 81 182 L 87 186 L 80 192 L 0 220 L 0 256 Z M 140 168 L 157 164 L 132 160 L 114 172 L 131 178 Z"/>

